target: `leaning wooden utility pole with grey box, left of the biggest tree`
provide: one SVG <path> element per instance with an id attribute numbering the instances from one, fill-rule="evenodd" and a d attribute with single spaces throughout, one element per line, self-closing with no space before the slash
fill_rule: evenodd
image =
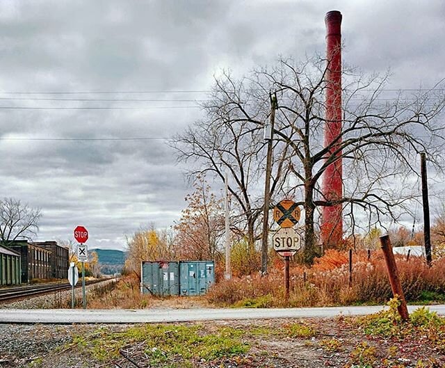
<path id="1" fill-rule="evenodd" d="M 275 110 L 278 109 L 277 95 L 270 93 L 270 123 L 264 126 L 264 140 L 267 141 L 266 183 L 264 185 L 263 235 L 261 238 L 261 274 L 267 273 L 269 207 L 270 207 L 270 175 L 272 174 L 273 127 Z"/>

